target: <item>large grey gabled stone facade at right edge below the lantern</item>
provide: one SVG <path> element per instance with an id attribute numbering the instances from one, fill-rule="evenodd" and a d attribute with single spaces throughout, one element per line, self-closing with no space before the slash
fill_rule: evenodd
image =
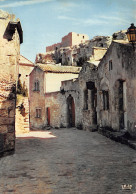
<path id="1" fill-rule="evenodd" d="M 98 67 L 99 125 L 115 130 L 125 128 L 133 135 L 136 135 L 135 59 L 131 44 L 113 42 Z M 108 110 L 103 109 L 103 90 L 109 92 Z"/>

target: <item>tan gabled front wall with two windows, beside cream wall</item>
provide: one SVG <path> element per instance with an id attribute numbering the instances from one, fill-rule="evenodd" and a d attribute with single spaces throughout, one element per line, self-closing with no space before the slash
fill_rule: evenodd
<path id="1" fill-rule="evenodd" d="M 45 77 L 44 72 L 35 68 L 30 74 L 30 128 L 40 129 L 46 125 L 45 117 Z M 35 82 L 39 83 L 39 90 L 35 89 Z M 36 115 L 36 109 L 41 110 L 39 117 Z"/>

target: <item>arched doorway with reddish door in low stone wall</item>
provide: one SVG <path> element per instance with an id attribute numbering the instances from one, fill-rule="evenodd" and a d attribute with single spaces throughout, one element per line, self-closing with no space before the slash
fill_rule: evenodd
<path id="1" fill-rule="evenodd" d="M 75 127 L 75 103 L 71 95 L 67 98 L 68 126 Z"/>

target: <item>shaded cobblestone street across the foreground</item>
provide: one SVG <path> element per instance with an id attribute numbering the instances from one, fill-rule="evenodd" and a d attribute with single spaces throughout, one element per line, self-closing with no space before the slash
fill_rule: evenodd
<path id="1" fill-rule="evenodd" d="M 0 194 L 136 193 L 135 150 L 97 132 L 49 132 L 18 137 L 15 154 L 0 159 Z"/>

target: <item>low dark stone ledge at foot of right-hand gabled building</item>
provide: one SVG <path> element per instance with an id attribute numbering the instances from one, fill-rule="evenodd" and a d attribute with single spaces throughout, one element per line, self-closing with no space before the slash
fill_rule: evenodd
<path id="1" fill-rule="evenodd" d="M 107 138 L 110 138 L 113 141 L 119 142 L 121 144 L 125 144 L 129 146 L 130 148 L 136 150 L 136 140 L 129 140 L 125 137 L 126 131 L 111 131 L 107 130 L 105 128 L 99 128 L 98 133 L 101 135 L 106 136 Z"/>

